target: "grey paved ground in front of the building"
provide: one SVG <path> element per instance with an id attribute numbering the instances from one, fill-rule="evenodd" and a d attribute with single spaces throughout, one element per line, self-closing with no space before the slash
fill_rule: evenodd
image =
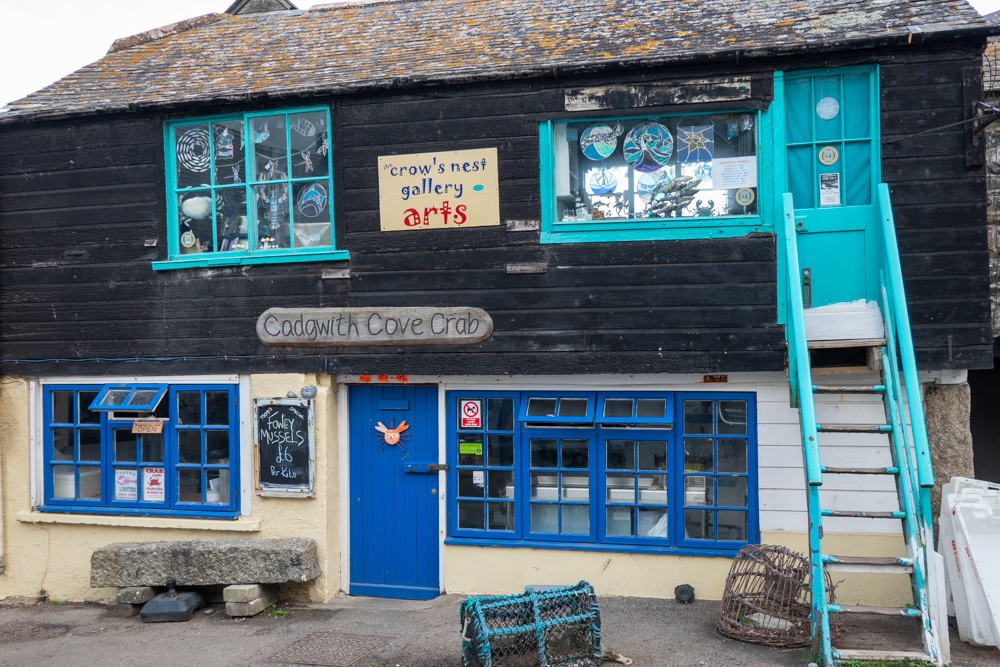
<path id="1" fill-rule="evenodd" d="M 337 597 L 325 605 L 290 606 L 282 618 L 228 618 L 220 607 L 185 623 L 144 624 L 108 618 L 101 607 L 0 607 L 0 665 L 32 667 L 228 667 L 273 665 L 269 658 L 315 632 L 339 630 L 393 639 L 356 667 L 461 665 L 457 596 L 430 602 Z M 717 602 L 602 598 L 605 646 L 637 667 L 802 667 L 805 651 L 781 650 L 723 639 L 715 633 Z M 854 626 L 855 641 L 891 644 L 906 628 L 889 619 L 881 632 Z M 899 619 L 905 620 L 905 619 Z M 846 644 L 845 644 L 846 645 Z M 954 635 L 954 664 L 1000 665 L 1000 651 L 977 649 Z M 287 663 L 285 667 L 289 667 Z"/>

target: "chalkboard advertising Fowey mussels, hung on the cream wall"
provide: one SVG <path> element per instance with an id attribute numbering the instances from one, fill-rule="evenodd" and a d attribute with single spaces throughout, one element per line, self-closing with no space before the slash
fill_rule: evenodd
<path id="1" fill-rule="evenodd" d="M 258 495 L 311 496 L 316 469 L 312 401 L 255 398 L 253 425 Z"/>

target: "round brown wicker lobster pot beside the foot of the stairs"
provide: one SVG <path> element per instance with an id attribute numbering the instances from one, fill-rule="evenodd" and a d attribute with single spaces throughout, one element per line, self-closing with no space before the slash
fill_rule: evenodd
<path id="1" fill-rule="evenodd" d="M 833 585 L 826 574 L 828 603 Z M 809 561 L 786 547 L 751 544 L 740 549 L 726 578 L 719 611 L 719 632 L 755 644 L 812 645 Z M 838 615 L 830 617 L 836 637 L 843 630 Z"/>

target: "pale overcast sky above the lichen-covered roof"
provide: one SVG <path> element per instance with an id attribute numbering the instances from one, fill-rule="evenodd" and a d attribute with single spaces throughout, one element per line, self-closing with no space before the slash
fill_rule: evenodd
<path id="1" fill-rule="evenodd" d="M 308 9 L 330 0 L 293 2 Z M 118 37 L 222 12 L 230 4 L 232 0 L 0 0 L 0 107 L 98 60 Z M 972 0 L 972 5 L 988 14 L 1000 9 L 1000 0 Z"/>

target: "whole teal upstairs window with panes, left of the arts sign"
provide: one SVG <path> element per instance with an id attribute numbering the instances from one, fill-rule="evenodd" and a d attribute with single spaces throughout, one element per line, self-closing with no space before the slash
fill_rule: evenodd
<path id="1" fill-rule="evenodd" d="M 164 146 L 169 260 L 154 269 L 348 259 L 327 107 L 171 121 Z"/>

